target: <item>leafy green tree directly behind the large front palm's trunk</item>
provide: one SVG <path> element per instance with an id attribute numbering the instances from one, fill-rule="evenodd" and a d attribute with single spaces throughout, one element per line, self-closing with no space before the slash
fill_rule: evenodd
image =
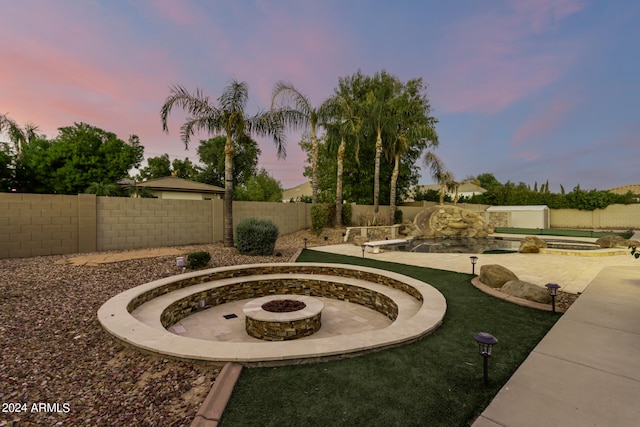
<path id="1" fill-rule="evenodd" d="M 258 156 L 261 153 L 258 143 L 247 135 L 240 135 L 233 141 L 233 187 L 243 185 L 258 173 Z M 201 140 L 198 156 L 204 169 L 199 181 L 218 187 L 224 187 L 224 136 Z"/>

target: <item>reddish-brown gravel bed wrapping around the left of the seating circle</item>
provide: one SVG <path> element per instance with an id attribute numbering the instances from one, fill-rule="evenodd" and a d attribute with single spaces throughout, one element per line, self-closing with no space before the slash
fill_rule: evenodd
<path id="1" fill-rule="evenodd" d="M 221 244 L 208 268 L 288 262 L 303 246 L 342 243 L 342 231 L 282 236 L 279 256 L 250 257 Z M 325 241 L 324 236 L 328 236 Z M 96 312 L 114 295 L 178 274 L 175 256 L 98 266 L 61 255 L 0 260 L 0 426 L 188 426 L 222 365 L 143 354 L 102 330 Z"/>

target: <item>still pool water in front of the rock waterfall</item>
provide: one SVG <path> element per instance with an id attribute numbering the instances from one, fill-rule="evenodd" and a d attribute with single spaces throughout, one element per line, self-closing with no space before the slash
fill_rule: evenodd
<path id="1" fill-rule="evenodd" d="M 384 248 L 400 252 L 425 253 L 517 253 L 520 248 L 519 238 L 506 237 L 450 237 L 434 239 L 416 239 L 406 243 L 387 245 Z M 546 239 L 545 239 L 546 240 Z M 599 249 L 597 245 L 585 244 L 570 240 L 546 240 L 547 247 L 552 249 L 591 250 Z"/>

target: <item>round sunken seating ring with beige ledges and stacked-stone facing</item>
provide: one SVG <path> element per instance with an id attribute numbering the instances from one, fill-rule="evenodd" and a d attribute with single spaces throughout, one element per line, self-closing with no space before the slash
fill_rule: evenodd
<path id="1" fill-rule="evenodd" d="M 263 294 L 256 295 L 256 290 Z M 348 335 L 255 343 L 207 341 L 166 330 L 200 310 L 270 294 L 355 302 L 384 313 L 393 323 Z M 150 318 L 144 322 L 131 314 L 142 304 L 149 304 Z M 401 274 L 342 264 L 273 263 L 221 267 L 146 283 L 103 304 L 98 320 L 114 337 L 148 352 L 263 366 L 339 358 L 414 341 L 435 330 L 445 312 L 446 301 L 438 290 Z"/>

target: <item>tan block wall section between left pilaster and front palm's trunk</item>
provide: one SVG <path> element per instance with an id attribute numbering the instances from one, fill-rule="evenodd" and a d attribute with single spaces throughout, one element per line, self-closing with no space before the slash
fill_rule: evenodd
<path id="1" fill-rule="evenodd" d="M 97 199 L 98 251 L 213 243 L 211 200 Z"/>

